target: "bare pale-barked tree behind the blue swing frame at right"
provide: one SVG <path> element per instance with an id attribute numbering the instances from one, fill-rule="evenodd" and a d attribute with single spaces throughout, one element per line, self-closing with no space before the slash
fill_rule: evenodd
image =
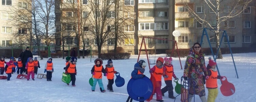
<path id="1" fill-rule="evenodd" d="M 194 7 L 190 6 L 186 0 L 181 1 L 186 5 L 186 9 L 196 19 L 196 21 L 198 21 L 198 23 L 202 24 L 203 27 L 216 29 L 214 30 L 214 33 L 216 38 L 216 48 L 218 48 L 220 33 L 218 30 L 220 30 L 221 27 L 220 23 L 227 21 L 230 18 L 241 16 L 240 14 L 243 13 L 243 10 L 247 8 L 247 5 L 252 0 L 196 0 L 196 3 L 202 5 L 202 8 L 198 10 L 200 13 L 197 13 L 197 8 L 194 9 Z M 206 8 L 209 8 L 211 14 L 206 11 Z M 216 22 L 209 19 L 209 17 L 212 17 L 212 14 L 214 14 L 213 18 L 215 18 Z M 228 29 L 228 27 L 223 27 L 223 29 Z M 217 58 L 223 59 L 221 50 L 219 50 Z"/>

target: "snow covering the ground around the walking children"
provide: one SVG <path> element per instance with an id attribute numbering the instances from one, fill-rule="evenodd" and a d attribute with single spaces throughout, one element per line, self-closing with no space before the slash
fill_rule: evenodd
<path id="1" fill-rule="evenodd" d="M 154 55 L 151 55 L 154 56 Z M 165 54 L 157 54 L 157 57 L 165 57 Z M 208 57 L 205 56 L 205 63 L 208 64 Z M 239 53 L 233 54 L 234 61 L 236 64 L 238 77 L 236 76 L 236 71 L 234 69 L 231 54 L 224 54 L 224 59 L 217 60 L 217 65 L 221 75 L 226 76 L 228 81 L 236 87 L 236 92 L 229 97 L 225 97 L 221 94 L 219 87 L 221 86 L 220 80 L 218 80 L 218 96 L 216 102 L 254 102 L 256 101 L 255 83 L 256 80 L 256 53 Z M 65 67 L 65 59 L 53 58 L 54 73 L 52 74 L 52 82 L 47 82 L 46 79 L 37 79 L 35 75 L 35 81 L 31 79 L 27 81 L 26 79 L 16 79 L 17 73 L 12 74 L 11 80 L 0 80 L 0 101 L 1 102 L 125 102 L 127 100 L 127 83 L 131 77 L 131 71 L 133 70 L 134 64 L 137 62 L 138 55 L 131 55 L 130 59 L 127 60 L 113 60 L 113 65 L 115 70 L 120 72 L 120 76 L 125 79 L 125 85 L 123 87 L 116 87 L 113 84 L 114 92 L 109 92 L 106 90 L 106 85 L 108 80 L 103 77 L 103 85 L 106 92 L 102 93 L 99 90 L 99 85 L 96 85 L 95 92 L 91 91 L 91 86 L 89 85 L 89 79 L 91 78 L 90 70 L 94 65 L 93 57 L 90 62 L 90 58 L 78 59 L 77 60 L 77 75 L 75 87 L 72 87 L 71 83 L 67 84 L 61 81 L 63 67 Z M 9 59 L 5 59 L 6 62 Z M 41 68 L 38 69 L 38 73 L 44 73 L 44 66 L 47 58 L 44 60 L 39 60 Z M 146 55 L 141 55 L 140 60 L 146 60 Z M 154 62 L 155 58 L 151 57 L 150 61 Z M 185 65 L 186 58 L 181 58 L 182 67 Z M 103 61 L 103 65 L 107 63 L 107 60 Z M 174 65 L 174 72 L 176 76 L 180 79 L 183 75 L 183 70 L 181 70 L 179 58 L 173 58 L 172 64 Z M 153 65 L 151 65 L 153 67 Z M 148 72 L 149 68 L 145 68 L 145 75 L 150 77 Z M 46 74 L 46 73 L 44 73 Z M 5 73 L 4 73 L 5 75 Z M 116 77 L 115 77 L 116 78 Z M 173 79 L 174 80 L 174 79 Z M 180 81 L 179 81 L 180 83 Z M 175 83 L 172 83 L 175 87 Z M 165 86 L 165 82 L 162 79 L 162 88 Z M 206 97 L 208 95 L 207 89 Z M 174 91 L 174 96 L 177 96 Z M 174 99 L 168 98 L 168 93 L 165 93 L 163 97 L 165 102 L 173 102 Z M 134 100 L 133 100 L 134 101 Z M 134 101 L 136 102 L 136 101 Z M 146 101 L 145 101 L 146 102 Z M 151 102 L 156 102 L 156 96 L 153 97 Z M 177 96 L 175 102 L 180 102 L 180 95 Z M 196 95 L 195 102 L 201 102 L 199 96 Z"/>

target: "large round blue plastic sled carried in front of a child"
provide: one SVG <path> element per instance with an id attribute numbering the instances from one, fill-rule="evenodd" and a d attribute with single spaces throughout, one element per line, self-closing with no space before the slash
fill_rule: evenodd
<path id="1" fill-rule="evenodd" d="M 129 96 L 136 101 L 145 101 L 153 93 L 153 84 L 147 77 L 139 79 L 130 79 L 127 84 Z"/>

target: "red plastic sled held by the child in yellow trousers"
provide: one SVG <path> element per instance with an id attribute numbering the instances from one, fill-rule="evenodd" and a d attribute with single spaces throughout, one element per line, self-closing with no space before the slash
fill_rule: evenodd
<path id="1" fill-rule="evenodd" d="M 224 79 L 224 80 L 223 80 Z M 221 94 L 223 96 L 231 96 L 234 94 L 234 92 L 236 91 L 234 85 L 232 83 L 228 82 L 227 77 L 223 77 L 223 79 L 221 79 L 222 85 L 221 85 Z"/>

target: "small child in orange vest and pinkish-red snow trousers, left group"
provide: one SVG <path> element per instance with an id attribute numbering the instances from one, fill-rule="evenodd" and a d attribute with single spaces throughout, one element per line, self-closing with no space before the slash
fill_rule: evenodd
<path id="1" fill-rule="evenodd" d="M 27 81 L 29 81 L 30 79 L 30 74 L 31 74 L 31 78 L 34 81 L 35 79 L 35 73 L 34 73 L 34 62 L 33 59 L 31 57 L 28 57 L 28 63 L 26 64 L 25 69 L 27 69 L 28 71 L 28 75 L 27 75 Z"/>

